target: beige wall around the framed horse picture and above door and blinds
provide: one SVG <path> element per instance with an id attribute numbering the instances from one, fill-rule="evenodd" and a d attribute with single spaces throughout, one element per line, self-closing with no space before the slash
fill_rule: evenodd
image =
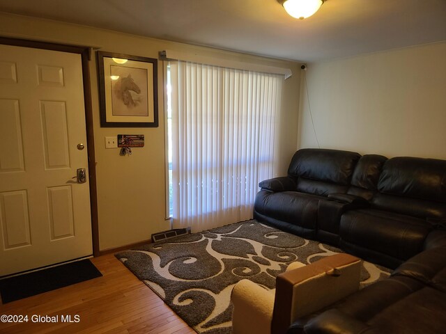
<path id="1" fill-rule="evenodd" d="M 158 51 L 171 49 L 196 52 L 233 61 L 291 68 L 293 77 L 284 84 L 283 119 L 279 138 L 276 174 L 286 173 L 295 151 L 298 127 L 300 64 L 249 56 L 206 47 L 196 47 L 164 40 L 93 29 L 0 13 L 0 35 L 49 42 L 100 47 L 102 51 L 157 58 Z M 165 216 L 164 105 L 162 62 L 158 66 L 160 126 L 157 128 L 101 128 L 96 59 L 90 62 L 91 95 L 95 134 L 95 159 L 98 183 L 100 249 L 115 248 L 150 239 L 151 234 L 167 230 Z M 144 134 L 146 145 L 135 148 L 131 157 L 120 157 L 118 149 L 105 150 L 105 136 Z M 283 162 L 282 162 L 283 161 Z"/>

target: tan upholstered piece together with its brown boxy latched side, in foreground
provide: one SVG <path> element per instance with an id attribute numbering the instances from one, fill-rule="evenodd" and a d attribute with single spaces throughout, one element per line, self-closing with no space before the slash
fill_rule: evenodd
<path id="1" fill-rule="evenodd" d="M 352 294 L 360 286 L 361 260 L 348 254 L 312 264 L 295 262 L 277 276 L 276 289 L 240 280 L 231 300 L 234 334 L 284 334 L 299 317 Z"/>

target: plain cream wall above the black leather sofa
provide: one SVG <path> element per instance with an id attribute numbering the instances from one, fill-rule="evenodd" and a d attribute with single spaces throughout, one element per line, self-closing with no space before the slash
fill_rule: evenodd
<path id="1" fill-rule="evenodd" d="M 446 42 L 308 64 L 301 82 L 299 147 L 316 129 L 321 148 L 446 159 Z"/>

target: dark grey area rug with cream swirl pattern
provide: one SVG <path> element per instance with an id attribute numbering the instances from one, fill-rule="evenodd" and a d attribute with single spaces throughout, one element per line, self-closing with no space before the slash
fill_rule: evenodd
<path id="1" fill-rule="evenodd" d="M 291 262 L 312 263 L 342 253 L 318 241 L 256 221 L 159 241 L 116 254 L 197 333 L 231 333 L 231 291 L 247 278 L 266 289 Z M 362 287 L 390 269 L 364 262 Z"/>

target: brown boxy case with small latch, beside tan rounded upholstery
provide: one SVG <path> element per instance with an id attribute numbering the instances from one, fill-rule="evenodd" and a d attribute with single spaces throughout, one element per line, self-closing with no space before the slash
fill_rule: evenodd
<path id="1" fill-rule="evenodd" d="M 357 291 L 360 270 L 360 259 L 337 254 L 277 276 L 271 333 L 284 334 L 296 319 Z"/>

